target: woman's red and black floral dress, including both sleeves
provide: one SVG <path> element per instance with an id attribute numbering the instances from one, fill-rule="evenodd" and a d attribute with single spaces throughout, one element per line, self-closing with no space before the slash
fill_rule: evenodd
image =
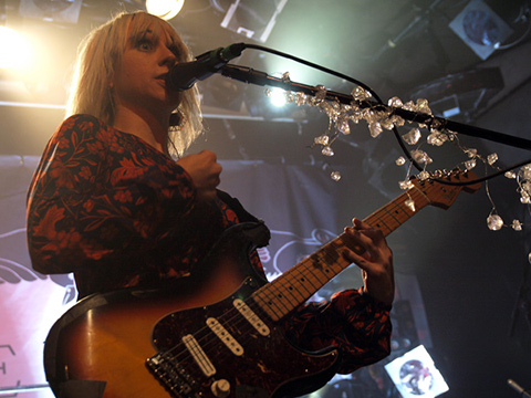
<path id="1" fill-rule="evenodd" d="M 198 202 L 195 195 L 189 175 L 140 138 L 71 116 L 50 139 L 28 193 L 33 268 L 73 272 L 80 297 L 187 275 L 239 222 L 225 201 Z M 285 329 L 306 349 L 337 346 L 342 373 L 389 350 L 389 308 L 357 290 L 302 306 Z"/>

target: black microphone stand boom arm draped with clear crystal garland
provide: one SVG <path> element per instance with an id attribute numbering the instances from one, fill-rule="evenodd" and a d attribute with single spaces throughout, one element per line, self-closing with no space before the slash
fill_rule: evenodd
<path id="1" fill-rule="evenodd" d="M 269 85 L 269 86 L 280 87 L 285 91 L 304 93 L 308 95 L 316 95 L 320 92 L 320 88 L 315 86 L 310 86 L 306 84 L 292 82 L 290 80 L 270 76 L 266 72 L 256 71 L 247 66 L 227 64 L 222 66 L 219 72 L 226 77 L 230 77 L 240 82 L 256 84 L 260 86 Z M 357 100 L 353 100 L 351 95 L 337 93 L 330 90 L 327 90 L 325 93 L 326 93 L 325 95 L 326 100 L 330 100 L 330 101 L 337 100 L 340 103 L 346 104 L 346 105 L 355 103 L 361 108 L 372 108 L 375 112 L 387 112 L 391 115 L 400 116 L 406 121 L 424 124 L 428 128 L 448 129 L 455 133 L 459 133 L 459 134 L 464 134 L 472 137 L 485 138 L 491 142 L 509 145 L 512 147 L 531 150 L 531 140 L 525 138 L 514 137 L 507 134 L 489 130 L 486 128 L 475 127 L 475 126 L 466 125 L 462 123 L 448 121 L 448 119 L 436 117 L 434 115 L 429 115 L 425 113 L 407 111 L 402 107 L 387 106 L 387 105 L 374 103 L 371 101 L 357 101 Z"/>

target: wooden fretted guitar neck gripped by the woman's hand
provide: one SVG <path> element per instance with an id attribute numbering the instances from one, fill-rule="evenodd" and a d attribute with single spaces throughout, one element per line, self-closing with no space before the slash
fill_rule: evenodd
<path id="1" fill-rule="evenodd" d="M 419 187 L 414 186 L 364 221 L 381 229 L 387 237 L 427 205 L 430 205 L 428 197 Z M 345 248 L 363 251 L 356 248 L 348 235 L 342 233 L 254 292 L 254 301 L 273 321 L 280 321 L 351 264 L 341 255 Z"/>

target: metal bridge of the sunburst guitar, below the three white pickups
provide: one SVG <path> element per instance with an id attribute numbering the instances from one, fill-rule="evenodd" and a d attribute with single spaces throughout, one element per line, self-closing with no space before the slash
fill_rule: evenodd
<path id="1" fill-rule="evenodd" d="M 171 356 L 158 353 L 146 359 L 152 374 L 177 398 L 200 398 L 199 385 Z"/>

